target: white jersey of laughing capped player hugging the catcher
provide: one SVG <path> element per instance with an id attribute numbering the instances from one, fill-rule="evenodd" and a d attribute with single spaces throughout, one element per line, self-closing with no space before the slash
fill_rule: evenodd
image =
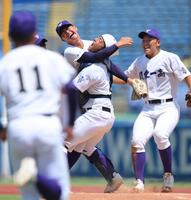
<path id="1" fill-rule="evenodd" d="M 76 67 L 79 65 L 77 60 L 83 55 L 84 52 L 88 51 L 88 47 L 92 43 L 90 40 L 82 40 L 84 47 L 83 49 L 79 47 L 67 47 L 64 51 L 64 56 L 72 66 Z"/>

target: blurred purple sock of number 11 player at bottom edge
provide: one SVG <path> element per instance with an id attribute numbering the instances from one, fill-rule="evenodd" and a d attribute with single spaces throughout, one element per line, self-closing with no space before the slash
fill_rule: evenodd
<path id="1" fill-rule="evenodd" d="M 46 200 L 60 199 L 61 188 L 56 180 L 38 174 L 36 186 L 42 197 Z"/>

